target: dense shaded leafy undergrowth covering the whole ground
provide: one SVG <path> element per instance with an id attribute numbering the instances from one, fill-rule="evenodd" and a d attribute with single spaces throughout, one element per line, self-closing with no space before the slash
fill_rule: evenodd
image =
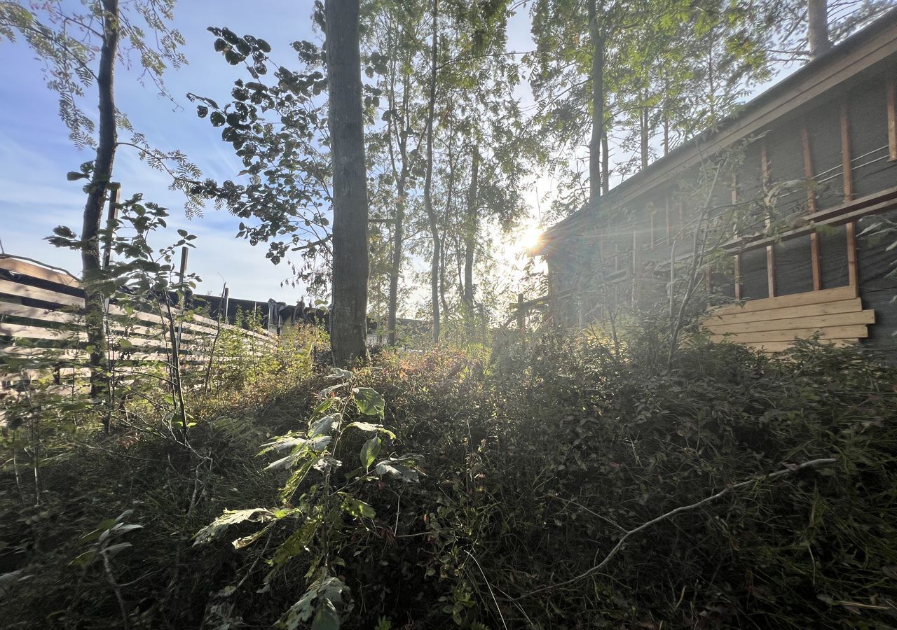
<path id="1" fill-rule="evenodd" d="M 281 493 L 292 471 L 265 469 L 283 453 L 257 453 L 341 395 L 310 369 L 196 401 L 190 449 L 70 449 L 45 464 L 39 506 L 20 498 L 33 479 L 4 472 L 0 618 L 306 627 L 283 616 L 309 583 L 324 598 L 323 557 L 344 628 L 897 627 L 897 371 L 813 343 L 775 360 L 694 343 L 672 370 L 650 343 L 626 352 L 545 333 L 492 358 L 380 353 L 352 386 L 385 400 L 396 438 L 378 459 L 416 453 L 416 482 L 358 469 L 370 435 L 346 431 L 339 462 Z M 297 537 L 326 470 L 358 503 Z M 195 544 L 250 508 L 265 510 Z"/>

